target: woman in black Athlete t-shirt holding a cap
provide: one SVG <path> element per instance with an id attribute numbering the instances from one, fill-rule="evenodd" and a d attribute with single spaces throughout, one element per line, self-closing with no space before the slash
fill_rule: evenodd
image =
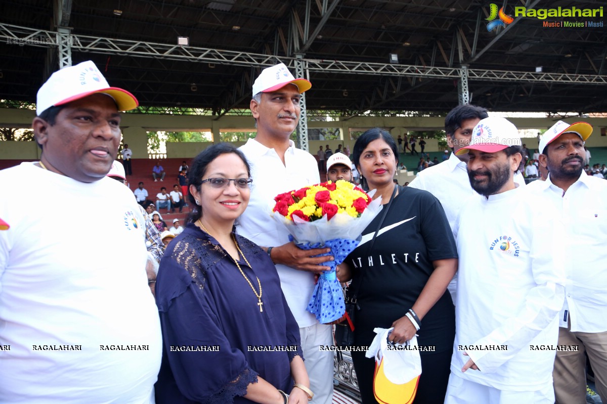
<path id="1" fill-rule="evenodd" d="M 393 198 L 381 226 L 383 211 L 363 232 L 368 241 L 338 268 L 342 282 L 352 278 L 352 290 L 359 285 L 355 345 L 370 345 L 376 327 L 394 327 L 389 339 L 399 343 L 418 334 L 419 346 L 428 351 L 420 352 L 422 374 L 415 403 L 443 403 L 455 336 L 455 310 L 447 285 L 458 265 L 449 222 L 432 194 L 398 185 L 395 190 L 398 148 L 388 132 L 366 131 L 356 141 L 353 156 L 364 187 L 376 190 L 374 199 L 381 196 L 386 209 Z M 418 316 L 419 331 L 406 316 L 409 309 Z M 365 358 L 364 352 L 353 352 L 352 359 L 362 403 L 375 403 L 375 360 Z"/>

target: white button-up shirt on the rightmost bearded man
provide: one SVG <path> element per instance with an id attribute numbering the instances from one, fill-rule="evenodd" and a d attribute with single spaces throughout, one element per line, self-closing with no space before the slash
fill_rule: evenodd
<path id="1" fill-rule="evenodd" d="M 607 331 L 607 182 L 583 173 L 563 194 L 550 175 L 533 189 L 560 212 L 567 230 L 565 249 L 565 303 L 571 331 Z M 561 323 L 563 325 L 563 323 Z"/>

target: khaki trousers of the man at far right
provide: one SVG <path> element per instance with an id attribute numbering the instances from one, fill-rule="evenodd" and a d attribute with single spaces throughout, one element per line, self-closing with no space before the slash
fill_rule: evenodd
<path id="1" fill-rule="evenodd" d="M 557 404 L 586 404 L 586 357 L 594 371 L 597 393 L 607 402 L 607 332 L 572 333 L 558 329 L 558 345 L 577 345 L 578 351 L 557 351 L 554 361 L 554 396 Z"/>

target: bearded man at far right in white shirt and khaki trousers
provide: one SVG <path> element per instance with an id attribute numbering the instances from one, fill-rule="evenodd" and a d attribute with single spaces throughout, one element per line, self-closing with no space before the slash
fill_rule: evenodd
<path id="1" fill-rule="evenodd" d="M 603 402 L 607 400 L 607 182 L 584 172 L 586 122 L 558 121 L 540 139 L 540 165 L 548 178 L 534 188 L 556 208 L 568 232 L 560 240 L 565 257 L 565 299 L 560 312 L 554 392 L 559 404 L 586 402 L 586 357 Z"/>

